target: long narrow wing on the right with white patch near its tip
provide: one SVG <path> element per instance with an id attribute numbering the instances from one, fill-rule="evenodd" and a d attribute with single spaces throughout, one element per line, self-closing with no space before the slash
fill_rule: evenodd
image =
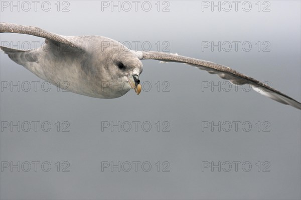
<path id="1" fill-rule="evenodd" d="M 188 65 L 195 66 L 201 70 L 206 70 L 210 74 L 216 74 L 222 79 L 227 79 L 231 83 L 236 85 L 250 84 L 256 92 L 259 92 L 264 96 L 267 96 L 280 103 L 291 105 L 297 109 L 301 109 L 301 104 L 298 101 L 292 99 L 291 97 L 279 92 L 278 90 L 275 90 L 274 88 L 260 81 L 257 81 L 256 79 L 241 74 L 229 67 L 212 63 L 209 61 L 180 56 L 177 54 L 168 54 L 163 52 L 142 52 L 142 51 L 140 52 L 137 51 L 134 53 L 138 56 L 140 60 L 154 59 L 163 62 L 185 63 Z"/>

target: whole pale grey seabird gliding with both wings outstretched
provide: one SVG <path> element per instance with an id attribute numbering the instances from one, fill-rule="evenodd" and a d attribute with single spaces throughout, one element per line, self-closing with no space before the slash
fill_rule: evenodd
<path id="1" fill-rule="evenodd" d="M 216 74 L 236 85 L 249 84 L 275 101 L 301 109 L 300 102 L 229 67 L 213 62 L 163 52 L 132 51 L 118 41 L 102 36 L 61 36 L 38 27 L 0 23 L 0 33 L 28 34 L 45 38 L 39 49 L 28 51 L 0 46 L 11 60 L 61 88 L 95 98 L 117 98 L 130 89 L 141 91 L 141 60 L 178 62 Z M 116 48 L 118 47 L 118 48 Z M 65 86 L 64 86 L 65 87 Z M 63 88 L 65 89 L 65 88 Z"/>

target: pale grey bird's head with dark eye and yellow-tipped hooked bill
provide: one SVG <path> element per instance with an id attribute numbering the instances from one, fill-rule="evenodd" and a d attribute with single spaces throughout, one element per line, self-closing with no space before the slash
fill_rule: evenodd
<path id="1" fill-rule="evenodd" d="M 139 75 L 142 72 L 142 63 L 138 56 L 120 42 L 105 38 L 106 47 L 93 52 L 97 59 L 93 66 L 99 66 L 95 73 L 101 85 L 101 93 L 109 98 L 117 98 L 130 89 L 138 95 L 141 92 Z"/>

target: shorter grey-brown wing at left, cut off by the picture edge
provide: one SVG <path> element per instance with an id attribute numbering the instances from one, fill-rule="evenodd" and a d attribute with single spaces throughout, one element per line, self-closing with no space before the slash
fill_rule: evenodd
<path id="1" fill-rule="evenodd" d="M 58 34 L 50 33 L 38 27 L 23 26 L 11 23 L 0 23 L 0 33 L 20 33 L 33 35 L 41 38 L 51 40 L 54 43 L 61 43 L 69 47 L 78 48 L 75 44 L 68 40 L 67 37 Z"/>

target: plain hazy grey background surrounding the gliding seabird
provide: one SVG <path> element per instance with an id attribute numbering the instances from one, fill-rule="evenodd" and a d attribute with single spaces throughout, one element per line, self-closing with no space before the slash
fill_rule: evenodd
<path id="1" fill-rule="evenodd" d="M 220 2 L 220 12 L 218 8 L 211 11 L 211 7 L 202 7 L 211 1 L 160 2 L 159 12 L 157 1 L 149 1 L 152 5 L 149 12 L 141 8 L 146 4 L 143 1 L 139 2 L 137 12 L 131 1 L 132 9 L 128 12 L 124 11 L 127 7 L 122 10 L 121 2 L 120 12 L 117 8 L 111 11 L 110 7 L 102 7 L 105 3 L 101 1 L 60 2 L 59 12 L 56 1 L 49 1 L 48 12 L 39 6 L 43 2 L 38 4 L 37 11 L 31 3 L 32 9 L 28 12 L 24 11 L 26 5 L 22 8 L 22 2 L 20 12 L 16 8 L 11 11 L 4 2 L 10 4 L 10 1 L 1 1 L 2 22 L 37 26 L 60 35 L 101 35 L 130 43 L 131 49 L 139 42 L 137 50 L 143 50 L 142 43 L 151 44 L 153 51 L 158 50 L 159 43 L 161 51 L 169 44 L 166 50 L 171 53 L 229 66 L 268 82 L 297 101 L 301 99 L 299 1 L 260 2 L 260 11 L 257 1 L 250 1 L 249 12 L 242 8 L 244 4 L 244 9 L 248 9 L 244 1 L 238 4 L 237 12 L 232 2 L 229 12 L 225 11 L 228 6 L 223 2 Z M 62 12 L 65 6 L 68 12 Z M 170 11 L 162 12 L 166 6 Z M 264 8 L 270 11 L 263 12 Z M 18 41 L 20 44 L 28 41 L 32 45 L 33 41 L 44 41 L 19 34 L 0 36 L 2 45 L 12 42 L 19 48 L 23 45 L 18 45 Z M 225 45 L 231 43 L 232 49 L 226 51 L 228 46 L 224 46 L 221 51 L 218 48 L 212 51 L 202 46 L 219 41 L 226 42 Z M 233 41 L 240 42 L 237 51 Z M 241 44 L 244 42 L 252 45 L 250 51 L 243 50 Z M 228 91 L 229 82 L 205 71 L 184 64 L 144 60 L 140 75 L 144 88 L 139 96 L 129 91 L 117 99 L 96 99 L 58 92 L 53 85 L 45 92 L 41 88 L 43 80 L 11 61 L 3 52 L 0 58 L 1 199 L 301 197 L 300 111 L 253 90 L 247 92 L 248 86 L 238 87 L 237 91 L 232 86 Z M 37 91 L 32 81 L 39 81 Z M 18 82 L 20 86 L 30 82 L 32 88 L 28 92 L 21 88 L 18 92 L 16 88 L 11 91 L 10 87 L 4 87 L 6 83 Z M 204 87 L 207 84 L 209 87 Z M 211 89 L 218 84 L 220 88 Z M 146 91 L 149 85 L 152 88 Z M 159 91 L 158 85 L 161 86 Z M 169 91 L 164 92 L 164 89 Z M 37 131 L 33 121 L 40 122 Z M 32 127 L 26 132 L 27 126 L 20 125 L 20 132 L 17 128 L 11 131 L 11 127 L 3 126 L 5 122 L 29 122 Z M 42 130 L 43 122 L 51 124 L 48 132 Z M 117 128 L 111 131 L 110 127 L 103 126 L 106 122 L 120 122 L 124 126 L 119 126 L 120 131 Z M 220 122 L 221 130 L 205 127 L 207 122 L 209 125 Z M 234 122 L 238 123 L 237 131 Z M 131 129 L 127 132 L 128 123 Z M 62 131 L 66 124 L 69 132 Z M 142 124 L 146 125 L 141 127 Z M 152 127 L 146 131 L 148 124 Z M 169 132 L 164 132 L 167 126 Z M 11 162 L 18 165 L 18 161 L 20 172 L 17 167 L 4 167 Z M 37 171 L 34 161 L 40 162 Z M 137 171 L 134 170 L 135 161 L 140 162 Z M 235 161 L 240 162 L 237 171 Z M 27 162 L 31 163 L 28 172 Z M 43 171 L 48 168 L 44 165 L 42 169 L 43 162 L 51 164 L 48 172 Z M 57 162 L 60 162 L 59 172 Z M 120 172 L 116 167 L 113 171 L 110 167 L 102 170 L 102 164 L 107 162 L 115 165 L 120 162 Z M 127 162 L 131 163 L 128 172 Z M 143 162 L 151 164 L 148 172 L 144 171 L 147 165 L 141 168 Z M 215 165 L 221 162 L 220 172 L 217 167 L 212 171 L 211 166 L 202 170 L 202 165 L 211 162 Z M 242 167 L 244 162 L 247 164 Z M 227 163 L 232 166 L 228 172 Z M 247 171 L 248 163 L 251 163 L 250 171 Z M 62 171 L 65 166 L 69 172 Z M 164 171 L 164 167 L 169 171 Z"/>

